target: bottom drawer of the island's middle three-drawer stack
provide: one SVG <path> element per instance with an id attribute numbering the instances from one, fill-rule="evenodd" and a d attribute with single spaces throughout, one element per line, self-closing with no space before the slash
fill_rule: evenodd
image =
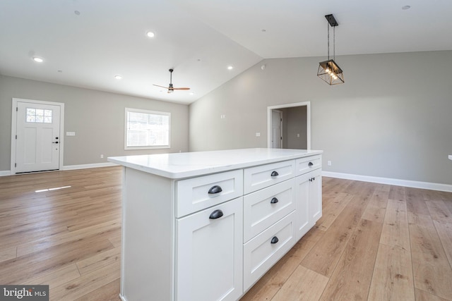
<path id="1" fill-rule="evenodd" d="M 278 242 L 275 242 L 275 238 L 278 238 Z M 246 242 L 243 252 L 244 291 L 278 262 L 295 242 L 295 212 Z"/>

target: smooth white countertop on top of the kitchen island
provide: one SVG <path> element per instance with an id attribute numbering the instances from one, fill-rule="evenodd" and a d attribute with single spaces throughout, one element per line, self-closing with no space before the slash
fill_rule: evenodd
<path id="1" fill-rule="evenodd" d="M 146 173 L 179 179 L 297 159 L 322 152 L 306 149 L 229 149 L 210 152 L 112 156 L 108 158 L 108 161 Z"/>

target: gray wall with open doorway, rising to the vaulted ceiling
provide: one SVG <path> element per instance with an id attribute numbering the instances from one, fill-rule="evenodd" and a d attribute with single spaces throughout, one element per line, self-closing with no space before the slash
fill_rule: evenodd
<path id="1" fill-rule="evenodd" d="M 311 102 L 324 171 L 452 184 L 452 51 L 338 56 L 336 86 L 324 59 L 262 61 L 191 104 L 190 150 L 266 147 L 267 106 Z"/>

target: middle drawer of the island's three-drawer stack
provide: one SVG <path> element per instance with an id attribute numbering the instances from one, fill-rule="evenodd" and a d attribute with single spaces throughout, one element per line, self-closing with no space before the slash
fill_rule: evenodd
<path id="1" fill-rule="evenodd" d="M 295 210 L 295 178 L 244 196 L 244 242 Z"/>

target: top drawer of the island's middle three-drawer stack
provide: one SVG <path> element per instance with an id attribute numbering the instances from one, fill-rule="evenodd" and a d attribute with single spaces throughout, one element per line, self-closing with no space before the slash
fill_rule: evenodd
<path id="1" fill-rule="evenodd" d="M 295 177 L 295 160 L 246 168 L 244 193 L 248 194 L 293 177 Z"/>

